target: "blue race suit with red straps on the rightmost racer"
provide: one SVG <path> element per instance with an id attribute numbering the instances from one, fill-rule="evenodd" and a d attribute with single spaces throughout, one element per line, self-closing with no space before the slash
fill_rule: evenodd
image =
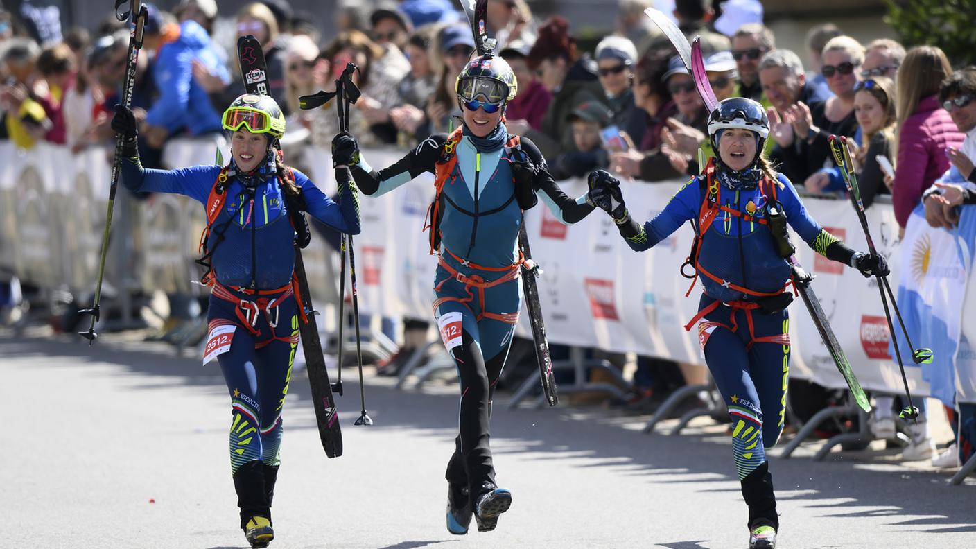
<path id="1" fill-rule="evenodd" d="M 784 293 L 792 268 L 778 253 L 770 231 L 769 210 L 776 205 L 793 231 L 817 253 L 849 264 L 853 251 L 824 231 L 800 201 L 793 184 L 778 175 L 743 182 L 720 173 L 715 162 L 705 174 L 678 190 L 653 220 L 632 229 L 621 226 L 630 248 L 646 250 L 693 220 L 697 253 L 689 259 L 704 285 L 699 313 L 685 329 L 698 323 L 698 338 L 715 384 L 732 420 L 732 450 L 756 520 L 779 528 L 772 478 L 765 449 L 783 432 L 790 371 L 790 318 Z M 779 202 L 779 204 L 777 204 Z M 707 221 L 711 218 L 711 221 Z M 689 293 L 691 289 L 689 288 Z"/>

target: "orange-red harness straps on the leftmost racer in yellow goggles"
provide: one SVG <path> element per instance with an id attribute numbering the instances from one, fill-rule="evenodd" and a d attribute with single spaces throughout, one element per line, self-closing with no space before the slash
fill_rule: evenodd
<path id="1" fill-rule="evenodd" d="M 285 302 L 288 298 L 295 296 L 297 303 L 299 304 L 299 315 L 301 315 L 302 320 L 307 322 L 308 319 L 305 316 L 305 307 L 301 304 L 305 303 L 302 300 L 302 294 L 299 289 L 298 276 L 292 272 L 292 280 L 281 286 L 280 288 L 275 288 L 273 290 L 255 290 L 251 288 L 245 288 L 242 286 L 225 286 L 217 280 L 217 274 L 214 271 L 213 265 L 210 263 L 210 258 L 213 257 L 214 251 L 217 249 L 217 245 L 223 239 L 223 234 L 229 226 L 230 222 L 233 220 L 231 216 L 230 219 L 224 223 L 223 226 L 217 228 L 218 241 L 214 244 L 213 249 L 207 248 L 207 240 L 210 237 L 210 233 L 213 230 L 214 223 L 217 221 L 218 216 L 224 210 L 224 203 L 227 198 L 227 181 L 230 177 L 236 174 L 235 170 L 232 170 L 230 166 L 224 166 L 221 168 L 221 172 L 217 175 L 217 179 L 214 181 L 214 186 L 210 190 L 210 195 L 207 197 L 207 226 L 200 233 L 200 244 L 197 251 L 202 254 L 200 259 L 196 260 L 196 263 L 203 266 L 206 272 L 200 276 L 200 284 L 210 288 L 211 293 L 214 297 L 218 297 L 233 303 L 236 305 L 234 313 L 236 314 L 240 323 L 255 337 L 261 336 L 261 330 L 256 326 L 258 323 L 258 317 L 262 311 L 264 311 L 265 317 L 267 317 L 267 324 L 271 328 L 271 338 L 263 342 L 258 343 L 255 348 L 261 349 L 265 345 L 271 343 L 271 341 L 278 340 L 287 343 L 297 343 L 298 336 L 287 336 L 280 337 L 275 334 L 275 328 L 278 326 L 278 306 Z M 290 168 L 288 170 L 288 175 L 291 181 L 295 181 L 295 173 Z M 278 185 L 284 186 L 284 182 L 281 178 L 278 179 Z M 285 190 L 282 189 L 282 196 L 285 198 L 286 203 L 289 206 L 289 221 L 292 227 L 298 232 L 298 240 L 301 247 L 305 247 L 308 244 L 308 225 L 305 221 L 305 216 L 300 209 L 304 205 L 301 196 L 291 197 Z M 300 218 L 296 220 L 296 217 Z M 302 245 L 304 243 L 304 245 Z M 256 296 L 254 300 L 242 299 L 238 295 L 235 295 L 231 290 L 243 293 L 246 295 Z M 261 297 L 261 296 L 277 296 L 271 297 Z M 273 317 L 272 317 L 273 311 Z"/>

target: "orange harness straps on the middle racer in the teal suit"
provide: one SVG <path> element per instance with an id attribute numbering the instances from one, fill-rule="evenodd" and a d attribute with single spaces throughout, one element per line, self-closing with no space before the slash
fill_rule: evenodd
<path id="1" fill-rule="evenodd" d="M 525 257 L 522 255 L 521 251 L 518 252 L 518 261 L 509 265 L 508 267 L 482 267 L 480 265 L 471 263 L 470 261 L 459 257 L 454 252 L 447 249 L 446 246 L 444 247 L 444 251 L 447 252 L 449 256 L 451 256 L 455 261 L 464 265 L 465 267 L 470 267 L 478 271 L 487 271 L 491 273 L 505 273 L 502 276 L 488 282 L 486 282 L 484 277 L 482 277 L 479 274 L 461 273 L 460 271 L 452 267 L 449 263 L 447 263 L 444 260 L 443 255 L 439 253 L 439 250 L 441 248 L 441 243 L 440 243 L 441 240 L 440 216 L 442 213 L 440 211 L 441 191 L 444 189 L 444 184 L 447 183 L 448 180 L 450 180 L 451 183 L 453 184 L 458 179 L 458 176 L 453 174 L 454 174 L 454 168 L 458 164 L 457 147 L 458 144 L 461 142 L 462 137 L 463 137 L 463 133 L 461 127 L 451 132 L 450 137 L 448 137 L 447 141 L 444 142 L 444 145 L 441 147 L 440 158 L 434 164 L 434 184 L 433 184 L 434 198 L 433 201 L 430 203 L 430 206 L 427 208 L 427 223 L 424 226 L 424 231 L 429 231 L 428 237 L 430 242 L 430 252 L 429 252 L 430 255 L 438 256 L 437 264 L 440 267 L 443 267 L 444 270 L 451 275 L 451 277 L 444 278 L 436 286 L 434 286 L 434 291 L 435 292 L 440 291 L 441 287 L 444 285 L 445 282 L 453 279 L 465 285 L 465 291 L 468 292 L 468 297 L 458 298 L 458 297 L 449 296 L 449 297 L 438 298 L 433 302 L 434 314 L 436 314 L 437 308 L 440 307 L 441 304 L 450 301 L 461 303 L 465 305 L 465 307 L 468 307 L 468 311 L 470 311 L 470 307 L 468 306 L 468 303 L 474 301 L 474 293 L 472 291 L 472 288 L 477 288 L 478 298 L 481 303 L 481 313 L 474 317 L 475 321 L 478 321 L 481 318 L 491 318 L 494 320 L 500 320 L 507 324 L 517 324 L 518 312 L 491 313 L 489 311 L 485 311 L 484 298 L 485 298 L 485 290 L 487 288 L 491 288 L 493 286 L 503 284 L 505 282 L 514 280 L 520 276 L 522 266 L 527 264 L 527 262 L 525 261 Z M 519 136 L 512 136 L 508 138 L 508 142 L 506 142 L 505 144 L 506 152 L 510 153 L 510 150 L 519 148 L 519 144 L 520 144 Z M 467 210 L 459 207 L 446 194 L 443 196 L 444 199 L 446 199 L 448 202 L 451 202 L 451 205 L 457 208 L 459 211 L 471 216 L 474 215 L 472 212 L 468 212 Z M 502 211 L 508 207 L 508 204 L 510 204 L 514 198 L 515 198 L 515 193 L 512 192 L 511 197 L 508 198 L 508 200 L 502 206 L 486 212 L 480 212 L 478 215 L 487 215 L 487 214 L 492 214 L 495 212 Z M 474 312 L 471 311 L 471 314 L 473 315 Z"/>

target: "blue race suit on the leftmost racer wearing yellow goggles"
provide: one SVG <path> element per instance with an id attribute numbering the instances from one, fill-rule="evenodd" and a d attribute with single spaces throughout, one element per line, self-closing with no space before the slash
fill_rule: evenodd
<path id="1" fill-rule="evenodd" d="M 172 171 L 143 169 L 138 156 L 121 163 L 122 182 L 130 190 L 183 194 L 208 209 L 208 202 L 214 204 L 216 183 L 224 180 L 223 209 L 207 235 L 207 249 L 213 255 L 212 272 L 203 279 L 212 281 L 204 362 L 215 357 L 220 361 L 230 393 L 230 468 L 242 528 L 254 515 L 270 519 L 280 463 L 281 412 L 299 342 L 298 285 L 293 284 L 295 229 L 274 162 L 274 152 L 269 151 L 257 174 L 250 177 L 235 175 L 233 160 L 225 168 Z M 359 232 L 354 190 L 341 189 L 346 199 L 336 203 L 302 172 L 291 174 L 302 190 L 305 212 L 337 231 Z M 256 475 L 250 474 L 255 468 L 260 470 L 258 477 L 264 476 L 264 482 L 257 483 L 264 486 L 264 493 L 249 495 L 256 486 Z"/>

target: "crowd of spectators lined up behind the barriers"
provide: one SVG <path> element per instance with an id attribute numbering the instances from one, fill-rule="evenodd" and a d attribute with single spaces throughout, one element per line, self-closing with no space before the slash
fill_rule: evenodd
<path id="1" fill-rule="evenodd" d="M 249 4 L 233 20 L 237 36 L 253 34 L 264 45 L 270 94 L 288 121 L 286 141 L 329 147 L 338 131 L 334 112 L 301 110 L 298 97 L 331 89 L 351 61 L 362 97 L 350 130 L 364 147 L 403 148 L 458 124 L 455 78 L 474 43 L 454 4 L 343 3 L 328 41 L 287 0 Z M 708 112 L 693 78 L 643 15 L 654 4 L 620 0 L 615 33 L 590 53 L 566 19 L 539 21 L 524 0 L 489 2 L 488 30 L 519 85 L 508 130 L 532 139 L 557 179 L 603 168 L 644 182 L 673 181 L 700 172 L 700 150 L 711 154 Z M 759 2 L 724 4 L 716 19 L 711 1 L 676 0 L 672 15 L 689 39 L 701 36 L 719 100 L 748 97 L 768 108 L 765 147 L 797 188 L 844 192 L 828 137 L 846 136 L 866 205 L 891 194 L 904 230 L 924 193 L 930 225 L 956 223 L 958 204 L 947 196 L 958 195 L 954 185 L 976 182 L 976 68 L 954 72 L 933 46 L 861 44 L 833 23 L 807 34 L 804 67 L 800 55 L 777 48 Z M 147 166 L 159 164 L 169 139 L 220 134 L 221 112 L 243 89 L 233 42 L 215 39 L 219 16 L 228 14 L 218 14 L 216 0 L 182 0 L 172 14 L 149 6 L 133 96 Z M 108 19 L 91 34 L 62 34 L 50 17 L 0 11 L 0 42 L 0 139 L 80 150 L 112 137 L 108 120 L 127 63 L 124 23 Z M 893 173 L 884 171 L 884 159 Z M 667 376 L 645 375 L 651 365 L 641 364 L 633 401 L 660 401 L 654 380 Z"/>

